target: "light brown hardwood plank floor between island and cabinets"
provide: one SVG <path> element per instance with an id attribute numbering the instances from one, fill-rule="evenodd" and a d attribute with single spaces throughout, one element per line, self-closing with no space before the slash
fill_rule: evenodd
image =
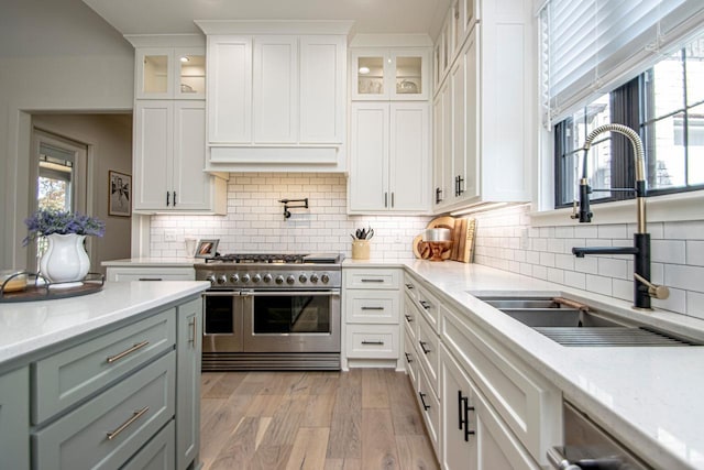
<path id="1" fill-rule="evenodd" d="M 202 470 L 438 469 L 408 378 L 205 372 Z"/>

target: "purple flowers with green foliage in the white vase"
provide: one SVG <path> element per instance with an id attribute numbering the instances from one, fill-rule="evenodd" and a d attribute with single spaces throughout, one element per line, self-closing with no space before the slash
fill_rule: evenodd
<path id="1" fill-rule="evenodd" d="M 25 219 L 24 223 L 30 231 L 23 241 L 24 247 L 32 240 L 52 233 L 102 237 L 106 232 L 106 223 L 100 219 L 80 212 L 57 209 L 40 209 Z"/>

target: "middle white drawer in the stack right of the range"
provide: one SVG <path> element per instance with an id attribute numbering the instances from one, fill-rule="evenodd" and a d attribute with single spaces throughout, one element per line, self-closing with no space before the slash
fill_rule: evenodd
<path id="1" fill-rule="evenodd" d="M 348 291 L 345 297 L 349 323 L 398 324 L 398 292 Z"/>

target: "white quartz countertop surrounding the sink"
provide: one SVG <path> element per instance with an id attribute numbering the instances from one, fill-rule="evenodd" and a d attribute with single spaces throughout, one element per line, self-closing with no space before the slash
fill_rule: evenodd
<path id="1" fill-rule="evenodd" d="M 704 347 L 564 347 L 474 295 L 565 295 L 697 339 L 704 338 L 704 321 L 663 310 L 641 313 L 628 302 L 475 264 L 405 265 L 656 468 L 704 469 Z"/>

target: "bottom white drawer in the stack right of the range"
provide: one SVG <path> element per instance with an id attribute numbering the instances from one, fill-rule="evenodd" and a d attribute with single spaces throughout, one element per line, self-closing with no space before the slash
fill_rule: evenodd
<path id="1" fill-rule="evenodd" d="M 348 358 L 397 359 L 398 325 L 349 325 Z"/>

